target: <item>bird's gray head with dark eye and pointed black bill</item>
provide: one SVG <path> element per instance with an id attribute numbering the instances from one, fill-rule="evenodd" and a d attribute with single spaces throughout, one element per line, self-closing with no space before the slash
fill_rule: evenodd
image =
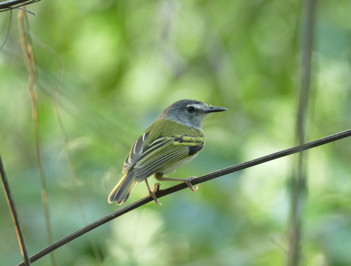
<path id="1" fill-rule="evenodd" d="M 227 108 L 211 106 L 196 100 L 180 100 L 169 106 L 159 116 L 183 125 L 201 129 L 202 122 L 210 113 L 226 111 Z"/>

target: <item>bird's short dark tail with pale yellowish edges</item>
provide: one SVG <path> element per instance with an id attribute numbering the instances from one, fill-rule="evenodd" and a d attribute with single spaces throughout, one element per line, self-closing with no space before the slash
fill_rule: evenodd
<path id="1" fill-rule="evenodd" d="M 136 184 L 137 180 L 134 175 L 134 170 L 130 169 L 112 189 L 110 195 L 108 195 L 108 203 L 117 202 L 118 205 L 121 205 L 128 199 L 129 194 Z"/>

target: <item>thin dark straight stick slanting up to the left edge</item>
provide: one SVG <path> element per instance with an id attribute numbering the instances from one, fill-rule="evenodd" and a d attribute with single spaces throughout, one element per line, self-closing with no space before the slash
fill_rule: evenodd
<path id="1" fill-rule="evenodd" d="M 24 237 L 23 237 L 23 233 L 22 233 L 22 230 L 20 227 L 20 222 L 19 222 L 18 217 L 17 217 L 15 202 L 12 198 L 10 186 L 8 184 L 6 173 L 5 173 L 5 168 L 4 168 L 4 165 L 2 164 L 1 155 L 0 155 L 0 174 L 1 174 L 1 179 L 2 179 L 2 185 L 4 185 L 7 203 L 8 203 L 8 206 L 10 208 L 11 215 L 12 215 L 12 220 L 15 224 L 15 230 L 16 230 L 16 234 L 17 234 L 18 244 L 20 245 L 21 253 L 22 253 L 22 256 L 24 258 L 24 265 L 30 266 L 31 262 L 29 260 L 27 248 L 26 248 L 26 245 L 24 243 Z"/>

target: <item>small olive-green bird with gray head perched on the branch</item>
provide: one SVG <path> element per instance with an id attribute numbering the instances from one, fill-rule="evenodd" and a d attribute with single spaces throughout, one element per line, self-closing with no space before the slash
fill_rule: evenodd
<path id="1" fill-rule="evenodd" d="M 196 177 L 166 178 L 163 175 L 175 172 L 196 157 L 205 145 L 201 129 L 205 117 L 226 110 L 196 100 L 180 100 L 166 108 L 133 144 L 124 162 L 124 176 L 108 195 L 108 202 L 121 205 L 134 186 L 145 180 L 149 195 L 161 205 L 155 195 L 160 183 L 151 190 L 147 182 L 153 174 L 159 181 L 182 181 L 191 191 L 197 191 L 198 185 L 193 188 L 190 183 Z"/>

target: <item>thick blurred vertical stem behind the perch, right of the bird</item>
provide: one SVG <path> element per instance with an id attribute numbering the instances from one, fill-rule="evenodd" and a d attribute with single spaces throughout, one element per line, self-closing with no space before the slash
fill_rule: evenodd
<path id="1" fill-rule="evenodd" d="M 311 82 L 311 61 L 314 34 L 314 10 L 316 0 L 304 1 L 304 27 L 302 36 L 302 58 L 301 58 L 301 77 L 298 99 L 298 111 L 296 120 L 296 140 L 297 144 L 305 143 L 306 116 L 310 95 Z M 290 209 L 290 228 L 289 228 L 289 251 L 287 266 L 300 264 L 301 248 L 301 228 L 302 210 L 306 192 L 306 153 L 297 154 L 297 161 L 294 164 L 291 178 L 291 209 Z"/>

